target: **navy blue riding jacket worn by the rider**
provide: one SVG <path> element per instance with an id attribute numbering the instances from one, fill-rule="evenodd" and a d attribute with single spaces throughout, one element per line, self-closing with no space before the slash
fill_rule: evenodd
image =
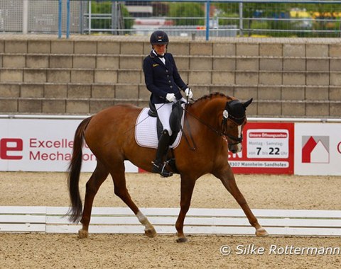
<path id="1" fill-rule="evenodd" d="M 167 93 L 175 93 L 175 98 L 180 100 L 183 96 L 179 88 L 183 91 L 188 88 L 180 77 L 173 55 L 165 53 L 163 57 L 166 64 L 153 51 L 144 58 L 144 80 L 148 91 L 152 93 L 152 103 L 168 103 Z"/>

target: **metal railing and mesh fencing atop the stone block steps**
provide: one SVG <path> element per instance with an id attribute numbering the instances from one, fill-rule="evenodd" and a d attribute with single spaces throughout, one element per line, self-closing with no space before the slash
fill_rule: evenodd
<path id="1" fill-rule="evenodd" d="M 139 16 L 139 8 L 129 11 L 131 4 L 150 8 L 142 8 L 147 12 Z M 59 37 L 66 33 L 68 38 L 70 33 L 149 35 L 161 29 L 208 40 L 236 35 L 340 38 L 340 28 L 341 1 L 0 0 L 3 33 L 58 33 Z"/>

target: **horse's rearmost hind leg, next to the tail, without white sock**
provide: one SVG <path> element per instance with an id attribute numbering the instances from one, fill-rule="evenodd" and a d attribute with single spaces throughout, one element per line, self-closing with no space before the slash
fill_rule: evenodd
<path id="1" fill-rule="evenodd" d="M 90 177 L 89 181 L 87 181 L 86 185 L 84 210 L 82 219 L 80 220 L 80 222 L 82 222 L 82 229 L 78 231 L 78 236 L 80 238 L 86 238 L 89 234 L 89 223 L 94 196 L 96 195 L 99 187 L 107 178 L 108 174 L 109 171 L 107 171 L 107 168 L 105 168 L 102 163 L 97 161 L 97 166 L 94 169 L 94 173 L 92 173 L 92 176 Z"/>

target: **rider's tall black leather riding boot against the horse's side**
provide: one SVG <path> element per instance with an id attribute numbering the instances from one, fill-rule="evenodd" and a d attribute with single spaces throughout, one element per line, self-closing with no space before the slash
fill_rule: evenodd
<path id="1" fill-rule="evenodd" d="M 166 164 L 163 162 L 163 156 L 166 155 L 169 145 L 169 134 L 167 130 L 163 130 L 160 140 L 158 140 L 158 149 L 156 151 L 156 159 L 153 161 L 153 173 L 159 173 L 161 176 L 167 178 L 173 176 L 173 173 L 167 171 Z"/>

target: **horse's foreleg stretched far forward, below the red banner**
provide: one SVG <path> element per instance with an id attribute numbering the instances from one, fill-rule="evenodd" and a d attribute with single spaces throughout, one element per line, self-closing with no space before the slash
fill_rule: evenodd
<path id="1" fill-rule="evenodd" d="M 254 213 L 251 212 L 251 209 L 247 204 L 247 200 L 245 200 L 244 195 L 242 195 L 240 192 L 231 167 L 228 166 L 228 168 L 224 171 L 215 173 L 215 176 L 222 181 L 222 184 L 225 186 L 225 188 L 227 188 L 229 193 L 231 193 L 234 199 L 237 200 L 240 207 L 242 207 L 247 219 L 249 219 L 249 223 L 256 229 L 256 236 L 268 236 L 269 234 L 263 227 L 261 227 L 258 220 L 254 216 Z"/>

